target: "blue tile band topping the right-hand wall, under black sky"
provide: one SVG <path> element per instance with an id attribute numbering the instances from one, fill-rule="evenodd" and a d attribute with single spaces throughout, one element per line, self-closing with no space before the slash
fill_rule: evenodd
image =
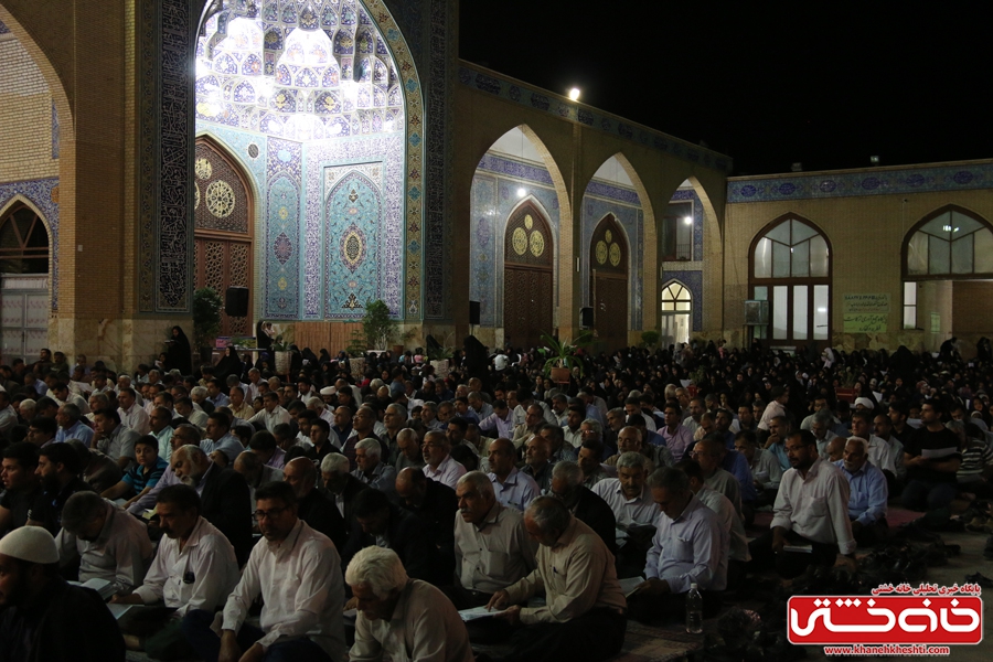
<path id="1" fill-rule="evenodd" d="M 736 179 L 727 182 L 727 202 L 769 202 L 993 188 L 993 162 L 835 171 L 796 177 Z"/>

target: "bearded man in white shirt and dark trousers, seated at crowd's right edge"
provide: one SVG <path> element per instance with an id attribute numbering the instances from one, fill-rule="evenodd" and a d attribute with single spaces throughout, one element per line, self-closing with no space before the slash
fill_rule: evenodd
<path id="1" fill-rule="evenodd" d="M 791 468 L 782 474 L 773 506 L 772 528 L 748 546 L 756 569 L 776 567 L 791 579 L 809 565 L 831 566 L 839 555 L 855 557 L 848 520 L 848 481 L 818 456 L 810 430 L 787 438 Z"/>

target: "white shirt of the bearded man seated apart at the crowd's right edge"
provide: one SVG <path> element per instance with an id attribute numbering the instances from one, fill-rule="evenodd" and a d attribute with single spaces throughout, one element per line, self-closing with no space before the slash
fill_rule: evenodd
<path id="1" fill-rule="evenodd" d="M 808 469 L 782 474 L 772 526 L 794 531 L 816 543 L 836 543 L 842 554 L 855 552 L 852 522 L 848 521 L 848 481 L 841 470 L 821 458 Z"/>

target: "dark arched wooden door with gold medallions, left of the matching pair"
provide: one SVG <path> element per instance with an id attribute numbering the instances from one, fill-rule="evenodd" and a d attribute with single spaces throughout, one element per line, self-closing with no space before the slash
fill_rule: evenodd
<path id="1" fill-rule="evenodd" d="M 503 328 L 508 344 L 532 348 L 542 333 L 552 333 L 554 254 L 548 222 L 535 205 L 525 202 L 511 215 L 504 238 Z"/>

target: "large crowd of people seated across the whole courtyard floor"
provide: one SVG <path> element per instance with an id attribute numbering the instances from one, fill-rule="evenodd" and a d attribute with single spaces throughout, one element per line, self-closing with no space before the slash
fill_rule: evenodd
<path id="1" fill-rule="evenodd" d="M 691 585 L 712 617 L 748 573 L 857 563 L 896 500 L 993 493 L 989 343 L 632 348 L 555 384 L 472 341 L 445 375 L 419 352 L 0 365 L 0 662 L 604 660 Z"/>

